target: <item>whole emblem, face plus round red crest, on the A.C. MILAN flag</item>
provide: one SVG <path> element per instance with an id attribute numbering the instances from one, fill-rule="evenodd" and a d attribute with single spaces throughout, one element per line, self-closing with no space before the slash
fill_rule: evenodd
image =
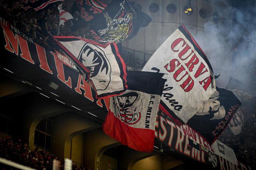
<path id="1" fill-rule="evenodd" d="M 139 92 L 128 91 L 115 97 L 118 116 L 127 124 L 135 124 L 140 120 L 142 100 Z"/>

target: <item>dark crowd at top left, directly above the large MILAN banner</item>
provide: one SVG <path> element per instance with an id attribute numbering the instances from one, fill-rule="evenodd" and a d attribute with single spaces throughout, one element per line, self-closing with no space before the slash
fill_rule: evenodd
<path id="1" fill-rule="evenodd" d="M 25 11 L 18 0 L 0 0 L 0 16 L 16 28 L 26 32 L 35 43 L 49 46 L 49 34 L 58 35 L 59 11 L 56 5 L 46 10 Z"/>

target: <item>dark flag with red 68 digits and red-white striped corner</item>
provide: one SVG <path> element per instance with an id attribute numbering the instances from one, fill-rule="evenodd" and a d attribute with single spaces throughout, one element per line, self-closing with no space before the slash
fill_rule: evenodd
<path id="1" fill-rule="evenodd" d="M 86 26 L 108 6 L 102 0 L 75 0 L 72 6 L 73 31 Z"/>

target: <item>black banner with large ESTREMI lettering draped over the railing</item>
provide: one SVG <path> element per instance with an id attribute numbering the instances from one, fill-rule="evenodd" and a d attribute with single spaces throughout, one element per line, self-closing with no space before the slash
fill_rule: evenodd
<path id="1" fill-rule="evenodd" d="M 182 128 L 162 112 L 158 112 L 155 127 L 156 140 L 162 142 L 163 152 L 175 152 L 181 157 L 194 159 L 214 169 L 251 170 L 250 166 L 237 165 L 214 153 L 214 148 L 199 138 L 200 144 L 185 136 Z"/>

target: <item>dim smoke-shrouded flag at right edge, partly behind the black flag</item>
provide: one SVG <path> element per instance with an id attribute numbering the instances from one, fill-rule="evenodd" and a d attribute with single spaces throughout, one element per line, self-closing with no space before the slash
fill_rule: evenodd
<path id="1" fill-rule="evenodd" d="M 233 77 L 229 79 L 225 89 L 232 91 L 242 103 L 242 106 L 239 107 L 228 125 L 232 133 L 234 135 L 238 135 L 242 132 L 243 124 L 247 115 L 251 113 L 249 112 L 249 108 L 251 108 L 252 105 L 248 105 L 246 103 L 249 103 L 248 100 L 256 96 L 256 91 L 253 90 L 254 88 L 250 85 L 247 85 Z"/>

